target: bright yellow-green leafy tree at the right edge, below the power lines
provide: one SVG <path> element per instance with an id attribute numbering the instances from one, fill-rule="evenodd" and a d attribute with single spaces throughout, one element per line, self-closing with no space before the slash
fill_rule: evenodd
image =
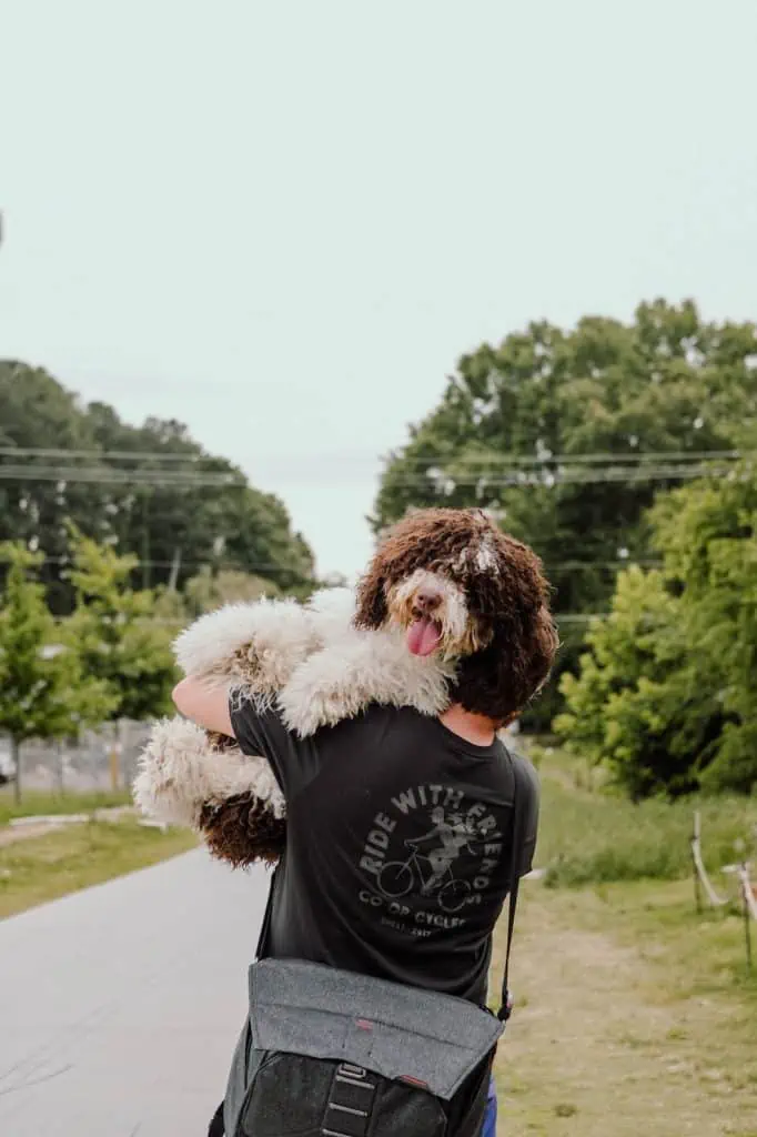
<path id="1" fill-rule="evenodd" d="M 634 797 L 757 782 L 757 473 L 663 496 L 662 571 L 631 568 L 556 728 Z"/>

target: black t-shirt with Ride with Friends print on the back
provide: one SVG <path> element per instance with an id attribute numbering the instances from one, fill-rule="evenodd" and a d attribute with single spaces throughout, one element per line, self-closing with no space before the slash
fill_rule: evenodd
<path id="1" fill-rule="evenodd" d="M 244 754 L 269 761 L 286 800 L 267 954 L 483 1004 L 511 880 L 516 763 L 521 875 L 535 847 L 530 763 L 410 708 L 372 706 L 307 739 L 251 704 L 232 707 L 232 724 Z"/>

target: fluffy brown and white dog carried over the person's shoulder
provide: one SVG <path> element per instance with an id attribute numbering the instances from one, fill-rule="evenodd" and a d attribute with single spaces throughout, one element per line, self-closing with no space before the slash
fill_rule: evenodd
<path id="1" fill-rule="evenodd" d="M 185 674 L 276 706 L 301 737 L 372 703 L 429 715 L 459 703 L 504 725 L 555 658 L 548 600 L 539 558 L 482 511 L 418 509 L 384 534 L 356 591 L 230 605 L 183 632 L 176 656 Z M 234 865 L 283 849 L 268 763 L 180 717 L 155 727 L 134 796 Z"/>

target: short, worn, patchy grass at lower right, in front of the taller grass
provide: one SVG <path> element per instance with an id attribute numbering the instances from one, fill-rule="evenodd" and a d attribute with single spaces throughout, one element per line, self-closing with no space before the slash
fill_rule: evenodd
<path id="1" fill-rule="evenodd" d="M 502 1135 L 756 1137 L 757 981 L 738 918 L 697 916 L 688 882 L 529 882 L 511 976 Z"/>

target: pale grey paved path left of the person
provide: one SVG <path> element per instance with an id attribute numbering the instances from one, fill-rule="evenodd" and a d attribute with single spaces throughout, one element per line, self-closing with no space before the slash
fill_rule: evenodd
<path id="1" fill-rule="evenodd" d="M 205 1137 L 266 894 L 198 852 L 0 923 L 3 1137 Z"/>

